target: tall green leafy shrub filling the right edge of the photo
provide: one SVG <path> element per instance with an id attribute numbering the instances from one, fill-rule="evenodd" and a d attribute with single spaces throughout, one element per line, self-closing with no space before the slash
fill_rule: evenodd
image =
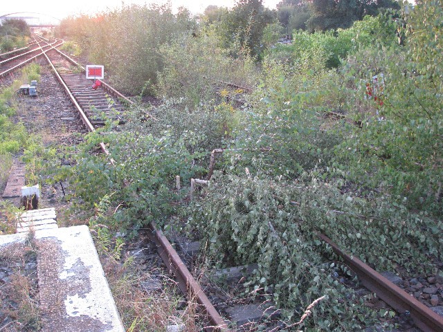
<path id="1" fill-rule="evenodd" d="M 442 13 L 440 8 L 427 10 L 428 6 L 432 7 L 423 1 L 409 17 L 404 13 L 410 24 L 405 46 L 363 49 L 348 59 L 343 81 L 352 87 L 346 93 L 353 103 L 349 109 L 359 113 L 364 125 L 351 131 L 336 154 L 351 181 L 363 179 L 365 185 L 399 197 L 397 203 L 403 204 L 406 197 L 408 208 L 437 216 L 443 206 L 443 119 L 437 111 L 442 109 L 438 88 L 442 75 L 435 64 L 442 61 L 442 46 L 433 35 L 436 21 L 431 17 Z M 424 48 L 429 51 L 423 52 Z M 365 84 L 380 73 L 384 75 L 383 104 L 364 100 Z"/>

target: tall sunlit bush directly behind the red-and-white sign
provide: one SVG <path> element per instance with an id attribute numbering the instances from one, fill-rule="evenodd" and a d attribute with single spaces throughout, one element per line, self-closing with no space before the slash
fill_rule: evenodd
<path id="1" fill-rule="evenodd" d="M 166 5 L 122 5 L 96 17 L 77 17 L 62 21 L 60 30 L 87 52 L 92 62 L 109 68 L 113 84 L 129 93 L 143 91 L 156 83 L 163 70 L 162 45 L 191 33 L 195 21 L 190 12 L 172 14 Z M 122 37 L 124 36 L 124 37 Z"/>

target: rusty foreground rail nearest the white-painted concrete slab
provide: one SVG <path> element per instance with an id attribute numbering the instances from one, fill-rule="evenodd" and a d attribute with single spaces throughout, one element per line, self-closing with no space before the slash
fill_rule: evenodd
<path id="1" fill-rule="evenodd" d="M 163 262 L 168 267 L 179 282 L 179 288 L 188 296 L 190 301 L 195 300 L 204 312 L 208 326 L 205 331 L 230 331 L 228 325 L 219 315 L 213 304 L 201 289 L 199 283 L 192 277 L 186 265 L 183 263 L 177 252 L 172 248 L 171 243 L 166 239 L 161 230 L 157 230 L 154 222 L 150 223 L 152 232 L 149 234 L 151 241 L 156 243 L 157 250 Z"/>

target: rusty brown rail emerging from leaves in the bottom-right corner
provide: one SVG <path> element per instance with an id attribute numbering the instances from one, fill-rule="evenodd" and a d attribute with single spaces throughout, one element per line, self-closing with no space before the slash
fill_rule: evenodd
<path id="1" fill-rule="evenodd" d="M 419 302 L 415 297 L 409 295 L 399 286 L 390 282 L 376 270 L 370 268 L 360 259 L 348 255 L 338 248 L 336 243 L 324 234 L 318 233 L 320 239 L 332 247 L 334 252 L 343 257 L 345 264 L 350 267 L 361 279 L 361 283 L 370 291 L 377 294 L 377 297 L 392 306 L 399 313 L 409 313 L 415 325 L 424 332 L 442 332 L 443 317 L 432 311 L 430 308 Z"/>

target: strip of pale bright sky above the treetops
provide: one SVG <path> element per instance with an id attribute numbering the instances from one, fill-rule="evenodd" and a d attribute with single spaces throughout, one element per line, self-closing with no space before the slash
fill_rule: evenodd
<path id="1" fill-rule="evenodd" d="M 107 9 L 120 8 L 122 3 L 165 3 L 166 0 L 2 0 L 0 6 L 0 16 L 12 12 L 39 12 L 58 19 L 63 19 L 70 15 L 91 14 L 102 12 Z M 235 0 L 171 0 L 173 10 L 183 6 L 191 12 L 197 14 L 203 12 L 209 5 L 232 7 Z M 275 8 L 280 0 L 264 0 L 264 6 Z M 29 15 L 30 16 L 30 15 Z"/>

